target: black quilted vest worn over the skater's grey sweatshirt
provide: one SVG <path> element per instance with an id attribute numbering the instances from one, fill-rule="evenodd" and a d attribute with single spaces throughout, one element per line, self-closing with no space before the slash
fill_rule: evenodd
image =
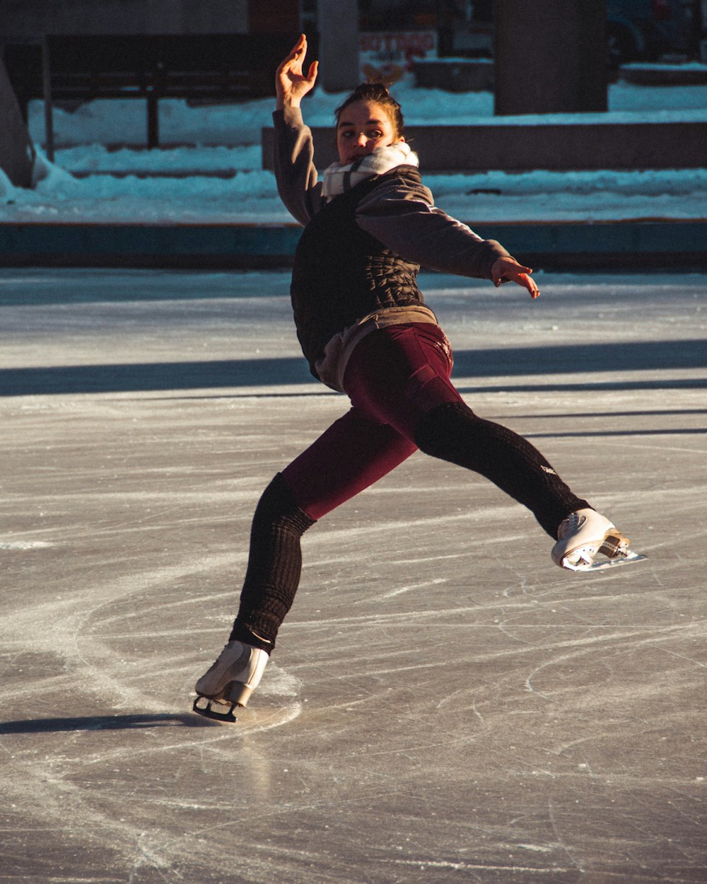
<path id="1" fill-rule="evenodd" d="M 362 181 L 326 203 L 300 237 L 290 294 L 297 338 L 315 377 L 315 362 L 339 331 L 376 309 L 423 303 L 416 279 L 420 265 L 362 231 L 354 218 L 366 194 L 394 179 L 421 181 L 414 166 Z"/>

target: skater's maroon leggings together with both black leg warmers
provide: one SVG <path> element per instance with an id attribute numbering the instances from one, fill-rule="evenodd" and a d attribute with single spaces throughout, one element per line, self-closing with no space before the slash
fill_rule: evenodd
<path id="1" fill-rule="evenodd" d="M 377 329 L 346 368 L 351 410 L 278 474 L 255 510 L 232 638 L 271 651 L 300 582 L 300 537 L 316 520 L 421 451 L 474 470 L 528 507 L 551 537 L 575 497 L 526 439 L 478 417 L 449 380 L 434 324 Z"/>

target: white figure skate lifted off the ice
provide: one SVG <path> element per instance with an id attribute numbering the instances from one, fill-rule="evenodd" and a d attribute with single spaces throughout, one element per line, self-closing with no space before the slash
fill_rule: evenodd
<path id="1" fill-rule="evenodd" d="M 644 560 L 646 556 L 628 548 L 630 543 L 604 515 L 578 509 L 560 522 L 552 561 L 570 571 L 595 571 Z M 597 561 L 599 554 L 606 558 Z"/>

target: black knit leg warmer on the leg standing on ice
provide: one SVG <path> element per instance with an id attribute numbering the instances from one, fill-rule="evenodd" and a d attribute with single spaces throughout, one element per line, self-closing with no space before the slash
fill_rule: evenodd
<path id="1" fill-rule="evenodd" d="M 315 523 L 277 476 L 262 493 L 250 533 L 250 556 L 231 639 L 271 652 L 300 584 L 300 537 Z"/>

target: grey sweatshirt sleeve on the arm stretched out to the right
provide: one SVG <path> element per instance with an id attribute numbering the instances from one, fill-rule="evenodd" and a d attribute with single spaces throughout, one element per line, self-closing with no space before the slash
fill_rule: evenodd
<path id="1" fill-rule="evenodd" d="M 407 261 L 433 271 L 491 278 L 491 267 L 508 255 L 496 240 L 482 240 L 467 225 L 437 209 L 428 187 L 393 179 L 358 205 L 362 230 Z"/>

